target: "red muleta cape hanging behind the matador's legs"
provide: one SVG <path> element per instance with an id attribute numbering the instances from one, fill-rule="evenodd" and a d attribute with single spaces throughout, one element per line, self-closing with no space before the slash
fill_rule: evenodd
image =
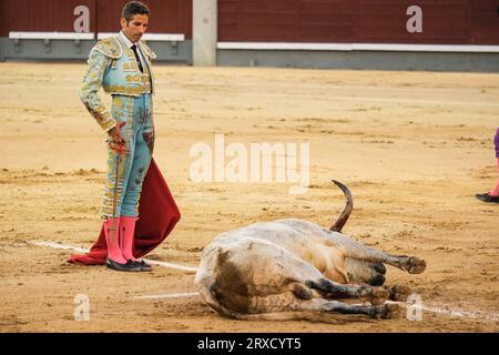
<path id="1" fill-rule="evenodd" d="M 139 200 L 139 216 L 133 243 L 133 255 L 135 257 L 142 257 L 160 245 L 181 217 L 175 200 L 173 200 L 169 185 L 154 159 L 151 160 L 142 185 Z M 101 233 L 90 252 L 79 255 L 73 254 L 69 262 L 84 265 L 103 265 L 106 256 L 108 244 L 105 243 L 104 225 L 102 225 Z"/>

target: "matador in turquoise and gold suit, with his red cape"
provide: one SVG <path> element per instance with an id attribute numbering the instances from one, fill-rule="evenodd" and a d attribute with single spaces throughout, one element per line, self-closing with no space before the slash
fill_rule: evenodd
<path id="1" fill-rule="evenodd" d="M 105 263 L 118 271 L 151 271 L 136 257 L 159 245 L 180 220 L 173 196 L 152 160 L 151 64 L 155 54 L 141 41 L 149 18 L 150 10 L 142 2 L 126 3 L 121 32 L 100 40 L 89 55 L 80 98 L 108 133 L 108 172 L 101 235 L 90 253 L 72 255 L 72 262 Z M 100 88 L 112 97 L 110 111 L 99 97 Z"/>

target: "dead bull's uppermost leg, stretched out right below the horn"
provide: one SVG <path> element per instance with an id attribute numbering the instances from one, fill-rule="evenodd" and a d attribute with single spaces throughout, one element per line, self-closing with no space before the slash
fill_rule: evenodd
<path id="1" fill-rule="evenodd" d="M 426 262 L 416 256 L 391 255 L 377 248 L 366 246 L 340 233 L 328 233 L 328 244 L 342 247 L 345 252 L 346 257 L 363 260 L 370 263 L 388 264 L 407 271 L 409 274 L 420 274 L 426 268 Z"/>

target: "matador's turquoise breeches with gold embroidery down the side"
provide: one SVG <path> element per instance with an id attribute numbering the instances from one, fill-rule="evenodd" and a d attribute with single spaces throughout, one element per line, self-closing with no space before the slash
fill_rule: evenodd
<path id="1" fill-rule="evenodd" d="M 121 134 L 126 150 L 118 152 L 109 145 L 108 174 L 102 217 L 138 216 L 142 183 L 147 173 L 154 149 L 154 123 L 151 94 L 139 98 L 113 95 L 111 115 L 126 122 Z"/>

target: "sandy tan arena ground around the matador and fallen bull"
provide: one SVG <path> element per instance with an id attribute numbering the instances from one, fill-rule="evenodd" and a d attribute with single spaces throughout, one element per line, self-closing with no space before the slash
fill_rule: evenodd
<path id="1" fill-rule="evenodd" d="M 499 74 L 187 68 L 156 65 L 155 159 L 182 220 L 151 258 L 196 266 L 217 234 L 255 221 L 302 217 L 395 254 L 426 258 L 388 283 L 421 295 L 422 321 L 243 322 L 213 313 L 192 272 L 123 274 L 67 263 L 100 227 L 104 135 L 78 98 L 84 64 L 0 63 L 0 332 L 498 332 L 499 206 L 492 187 Z M 109 102 L 109 100 L 106 101 Z M 310 144 L 312 187 L 194 183 L 193 144 Z M 90 321 L 74 320 L 78 294 Z"/>

